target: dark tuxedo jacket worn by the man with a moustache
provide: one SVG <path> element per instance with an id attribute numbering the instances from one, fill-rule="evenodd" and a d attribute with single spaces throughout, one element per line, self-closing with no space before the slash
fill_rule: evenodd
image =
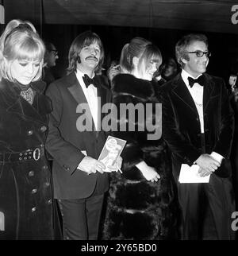
<path id="1" fill-rule="evenodd" d="M 101 106 L 110 101 L 110 91 L 104 86 L 101 76 L 98 97 Z M 49 117 L 49 132 L 46 149 L 53 158 L 52 176 L 55 197 L 58 199 L 80 199 L 90 196 L 96 187 L 103 193 L 108 189 L 107 173 L 87 175 L 77 169 L 80 161 L 87 156 L 98 159 L 106 142 L 103 131 L 94 131 L 94 122 L 90 111 L 83 111 L 83 103 L 87 103 L 83 89 L 75 76 L 75 72 L 54 81 L 48 87 L 46 95 L 52 99 L 52 114 Z M 98 104 L 100 101 L 98 101 Z M 83 126 L 82 114 L 92 131 L 80 131 Z M 102 115 L 103 118 L 103 115 Z M 84 123 L 85 124 L 85 123 Z"/>

